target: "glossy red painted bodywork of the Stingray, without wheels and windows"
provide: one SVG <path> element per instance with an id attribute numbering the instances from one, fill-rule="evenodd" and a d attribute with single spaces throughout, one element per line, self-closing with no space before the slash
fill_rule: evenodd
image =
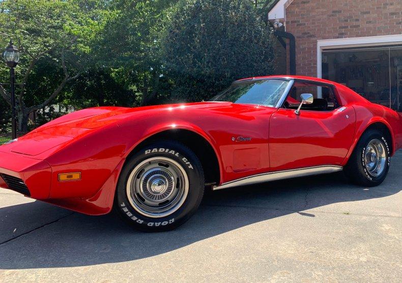
<path id="1" fill-rule="evenodd" d="M 22 179 L 31 197 L 82 213 L 108 213 L 129 153 L 162 131 L 185 129 L 203 137 L 219 162 L 219 184 L 259 173 L 347 163 L 370 124 L 392 135 L 392 154 L 402 147 L 402 115 L 372 104 L 346 86 L 301 76 L 269 76 L 330 84 L 346 107 L 294 110 L 231 102 L 200 102 L 84 109 L 55 119 L 0 146 L 0 173 Z M 288 102 L 295 100 L 288 97 Z M 297 102 L 297 101 L 296 101 Z M 348 118 L 346 116 L 348 115 Z M 234 142 L 234 137 L 251 140 Z M 81 172 L 60 182 L 60 173 Z M 0 186 L 7 188 L 0 177 Z"/>

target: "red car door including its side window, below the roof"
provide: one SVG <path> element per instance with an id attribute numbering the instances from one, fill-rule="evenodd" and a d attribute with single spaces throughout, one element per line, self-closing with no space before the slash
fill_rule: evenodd
<path id="1" fill-rule="evenodd" d="M 317 103 L 296 114 L 301 93 L 311 93 Z M 341 165 L 355 134 L 353 107 L 339 105 L 333 85 L 315 82 L 295 81 L 288 98 L 270 119 L 271 171 Z"/>

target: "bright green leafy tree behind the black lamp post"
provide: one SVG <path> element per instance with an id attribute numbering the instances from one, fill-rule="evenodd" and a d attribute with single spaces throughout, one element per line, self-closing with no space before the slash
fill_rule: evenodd
<path id="1" fill-rule="evenodd" d="M 107 3 L 107 1 L 105 1 Z M 17 92 L 19 131 L 27 131 L 28 115 L 49 105 L 65 85 L 75 80 L 90 66 L 91 43 L 104 26 L 104 3 L 96 0 L 5 0 L 0 3 L 0 42 L 12 38 L 21 51 L 16 69 L 22 85 Z M 27 85 L 38 74 L 38 64 L 56 66 L 49 73 L 55 81 L 47 93 L 35 95 L 35 88 Z M 42 66 L 43 67 L 43 66 Z M 5 68 L 0 71 L 2 78 Z M 51 69 L 50 70 L 54 70 Z M 10 93 L 0 86 L 0 94 L 11 105 Z M 40 100 L 39 100 L 40 98 Z"/>

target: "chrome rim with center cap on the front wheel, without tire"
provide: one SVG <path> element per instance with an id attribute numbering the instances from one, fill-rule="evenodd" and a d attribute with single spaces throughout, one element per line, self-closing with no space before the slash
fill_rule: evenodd
<path id="1" fill-rule="evenodd" d="M 188 194 L 188 177 L 173 159 L 150 158 L 130 173 L 126 193 L 131 206 L 148 217 L 164 217 L 179 209 Z"/>

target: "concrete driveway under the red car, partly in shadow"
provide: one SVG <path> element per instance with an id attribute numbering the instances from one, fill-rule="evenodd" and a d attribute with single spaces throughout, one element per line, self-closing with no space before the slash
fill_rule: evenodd
<path id="1" fill-rule="evenodd" d="M 402 280 L 402 152 L 381 186 L 342 173 L 210 193 L 172 232 L 140 233 L 0 191 L 0 281 Z"/>

